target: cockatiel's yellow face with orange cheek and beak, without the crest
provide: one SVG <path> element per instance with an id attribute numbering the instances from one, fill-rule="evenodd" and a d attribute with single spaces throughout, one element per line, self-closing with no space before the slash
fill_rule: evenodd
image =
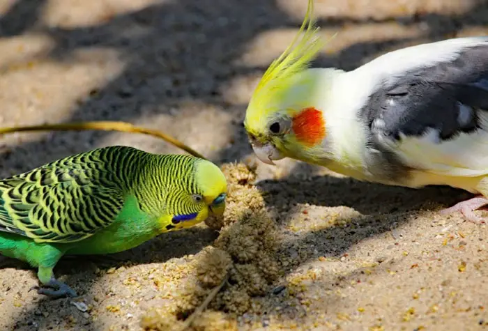
<path id="1" fill-rule="evenodd" d="M 316 100 L 319 83 L 314 70 L 305 70 L 254 95 L 244 125 L 259 160 L 310 159 L 321 148 L 326 125 Z"/>

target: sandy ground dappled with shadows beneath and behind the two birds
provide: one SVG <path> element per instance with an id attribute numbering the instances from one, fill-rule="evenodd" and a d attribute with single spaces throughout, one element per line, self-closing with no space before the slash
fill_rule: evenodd
<path id="1" fill-rule="evenodd" d="M 129 121 L 173 134 L 218 164 L 252 162 L 246 102 L 306 2 L 0 1 L 0 125 Z M 488 31 L 481 0 L 317 0 L 317 14 L 324 36 L 340 35 L 314 66 L 346 70 L 391 49 Z M 180 153 L 135 134 L 12 134 L 0 140 L 0 175 L 111 144 Z M 436 214 L 466 193 L 359 183 L 291 161 L 259 164 L 257 174 L 256 187 L 229 175 L 234 193 L 254 198 L 231 203 L 227 218 L 241 228 L 220 238 L 201 224 L 112 259 L 63 259 L 56 275 L 82 303 L 29 292 L 38 284 L 33 270 L 4 261 L 0 330 L 176 328 L 183 322 L 174 316 L 201 302 L 184 304 L 181 293 L 195 275 L 208 283 L 199 270 L 211 245 L 223 254 L 208 267 L 220 270 L 215 279 L 229 263 L 243 279 L 231 275 L 197 330 L 488 328 L 487 226 Z M 235 234 L 256 222 L 239 214 L 247 202 L 266 210 L 262 224 L 273 227 L 249 242 Z M 274 240 L 269 252 L 257 249 L 263 238 Z"/>

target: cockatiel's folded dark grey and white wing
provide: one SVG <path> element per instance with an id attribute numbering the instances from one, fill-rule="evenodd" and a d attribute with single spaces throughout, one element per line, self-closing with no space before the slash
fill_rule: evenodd
<path id="1" fill-rule="evenodd" d="M 455 61 L 390 77 L 363 111 L 372 148 L 390 151 L 406 167 L 488 174 L 488 38 Z"/>

